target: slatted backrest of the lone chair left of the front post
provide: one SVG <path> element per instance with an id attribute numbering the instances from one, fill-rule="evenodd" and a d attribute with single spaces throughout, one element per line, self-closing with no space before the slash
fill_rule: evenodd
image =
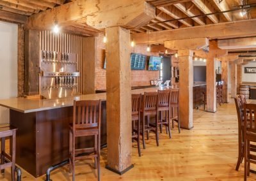
<path id="1" fill-rule="evenodd" d="M 74 101 L 73 129 L 76 128 L 100 128 L 101 100 Z"/>

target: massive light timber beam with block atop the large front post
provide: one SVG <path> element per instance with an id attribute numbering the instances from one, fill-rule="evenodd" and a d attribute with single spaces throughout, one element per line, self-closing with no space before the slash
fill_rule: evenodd
<path id="1" fill-rule="evenodd" d="M 77 0 L 57 6 L 54 10 L 32 15 L 28 18 L 27 27 L 30 29 L 52 27 L 56 10 L 60 25 L 72 25 L 72 22 L 84 20 L 84 23 L 96 29 L 113 26 L 141 27 L 156 16 L 156 8 L 143 0 Z"/>

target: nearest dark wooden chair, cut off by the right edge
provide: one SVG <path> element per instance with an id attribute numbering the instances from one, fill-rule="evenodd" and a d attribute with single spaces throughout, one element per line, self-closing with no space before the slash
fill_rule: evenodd
<path id="1" fill-rule="evenodd" d="M 256 143 L 256 127 L 254 119 L 256 117 L 256 105 L 245 104 L 243 107 L 244 121 L 244 180 L 250 175 L 250 163 L 256 164 L 256 155 L 252 153 L 251 143 Z"/>

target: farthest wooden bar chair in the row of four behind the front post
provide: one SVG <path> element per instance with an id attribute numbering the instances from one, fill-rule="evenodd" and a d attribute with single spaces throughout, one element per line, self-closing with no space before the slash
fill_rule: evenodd
<path id="1" fill-rule="evenodd" d="M 174 128 L 174 122 L 177 122 L 180 133 L 180 119 L 179 119 L 179 89 L 172 89 L 170 91 L 170 109 L 171 109 L 171 120 L 172 127 Z M 174 115 L 174 111 L 177 109 L 177 115 Z"/>

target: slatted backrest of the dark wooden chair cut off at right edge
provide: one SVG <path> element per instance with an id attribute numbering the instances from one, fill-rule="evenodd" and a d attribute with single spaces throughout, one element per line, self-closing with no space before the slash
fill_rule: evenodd
<path id="1" fill-rule="evenodd" d="M 244 111 L 244 133 L 246 131 L 250 131 L 252 133 L 256 133 L 256 127 L 254 119 L 256 117 L 256 105 L 255 104 L 245 104 L 243 107 Z M 255 139 L 256 140 L 256 139 Z"/>

